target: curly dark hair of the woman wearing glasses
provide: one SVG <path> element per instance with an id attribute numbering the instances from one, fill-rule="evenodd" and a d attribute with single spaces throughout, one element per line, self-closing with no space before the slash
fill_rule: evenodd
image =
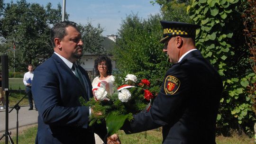
<path id="1" fill-rule="evenodd" d="M 106 64 L 107 64 L 107 67 L 108 67 L 108 72 L 107 74 L 108 75 L 111 75 L 112 74 L 112 63 L 111 63 L 111 60 L 109 57 L 107 56 L 99 56 L 95 61 L 94 61 L 94 69 L 95 69 L 95 72 L 96 72 L 96 75 L 97 76 L 100 76 L 100 72 L 98 70 L 98 65 L 99 63 L 101 62 L 104 62 L 106 61 Z"/>

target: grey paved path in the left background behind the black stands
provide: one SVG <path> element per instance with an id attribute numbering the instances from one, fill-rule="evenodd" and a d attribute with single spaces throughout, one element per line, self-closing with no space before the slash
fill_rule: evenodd
<path id="1" fill-rule="evenodd" d="M 35 110 L 28 110 L 29 106 L 21 106 L 18 110 L 18 127 L 37 124 L 38 112 Z M 10 110 L 11 108 L 9 108 Z M 13 109 L 9 113 L 9 130 L 15 129 L 17 123 L 17 110 Z M 12 130 L 14 131 L 14 130 Z M 5 132 L 5 109 L 0 110 L 0 136 Z"/>

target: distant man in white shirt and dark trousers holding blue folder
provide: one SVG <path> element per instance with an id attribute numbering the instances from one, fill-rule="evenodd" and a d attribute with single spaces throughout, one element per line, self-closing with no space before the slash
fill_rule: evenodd
<path id="1" fill-rule="evenodd" d="M 29 64 L 27 66 L 28 72 L 24 74 L 23 78 L 23 83 L 26 86 L 26 92 L 27 92 L 27 97 L 28 97 L 28 102 L 29 102 L 29 107 L 28 110 L 33 110 L 33 96 L 31 93 L 31 86 L 32 86 L 32 81 L 34 77 L 34 71 L 33 71 L 33 65 Z M 35 108 L 37 110 L 37 106 L 35 105 Z"/>

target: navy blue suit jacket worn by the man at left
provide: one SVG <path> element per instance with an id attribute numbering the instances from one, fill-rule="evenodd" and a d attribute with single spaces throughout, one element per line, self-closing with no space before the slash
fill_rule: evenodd
<path id="1" fill-rule="evenodd" d="M 88 74 L 82 72 L 86 92 L 71 69 L 53 54 L 34 72 L 32 94 L 38 109 L 36 144 L 94 144 L 94 130 L 104 139 L 106 126 L 89 127 L 89 108 L 79 97 L 92 97 Z"/>

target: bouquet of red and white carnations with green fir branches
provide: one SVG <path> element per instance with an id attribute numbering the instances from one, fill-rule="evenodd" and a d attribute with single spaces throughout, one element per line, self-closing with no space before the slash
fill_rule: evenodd
<path id="1" fill-rule="evenodd" d="M 150 92 L 150 82 L 146 79 L 137 82 L 137 77 L 128 74 L 123 81 L 115 77 L 113 92 L 108 93 L 108 83 L 101 81 L 98 88 L 93 89 L 94 98 L 85 101 L 80 98 L 82 106 L 89 106 L 94 113 L 101 112 L 101 116 L 91 115 L 90 126 L 106 120 L 108 135 L 116 133 L 124 124 L 125 120 L 131 121 L 133 114 L 142 110 L 149 110 L 154 95 Z"/>

